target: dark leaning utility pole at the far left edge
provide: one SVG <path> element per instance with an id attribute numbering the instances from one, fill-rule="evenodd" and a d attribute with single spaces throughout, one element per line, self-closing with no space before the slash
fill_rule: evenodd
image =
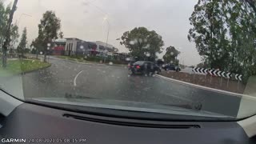
<path id="1" fill-rule="evenodd" d="M 3 43 L 3 46 L 2 46 L 2 67 L 6 67 L 7 48 L 10 45 L 10 26 L 11 26 L 11 23 L 13 22 L 14 12 L 17 8 L 17 3 L 18 3 L 18 0 L 14 0 L 14 5 L 10 11 L 9 20 L 7 23 L 6 41 Z"/>

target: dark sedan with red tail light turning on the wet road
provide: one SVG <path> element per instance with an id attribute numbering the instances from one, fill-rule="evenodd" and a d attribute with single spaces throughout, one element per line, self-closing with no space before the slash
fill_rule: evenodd
<path id="1" fill-rule="evenodd" d="M 131 74 L 159 74 L 161 69 L 153 62 L 138 61 L 128 65 Z"/>

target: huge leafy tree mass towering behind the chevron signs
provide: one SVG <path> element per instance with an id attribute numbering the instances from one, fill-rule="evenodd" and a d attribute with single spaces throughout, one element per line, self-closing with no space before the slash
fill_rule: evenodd
<path id="1" fill-rule="evenodd" d="M 244 74 L 255 71 L 256 16 L 242 0 L 198 0 L 188 39 L 211 68 Z"/>

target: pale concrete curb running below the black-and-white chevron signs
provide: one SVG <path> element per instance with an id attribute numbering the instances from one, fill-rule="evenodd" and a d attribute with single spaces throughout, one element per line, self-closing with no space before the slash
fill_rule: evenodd
<path id="1" fill-rule="evenodd" d="M 174 78 L 167 78 L 167 77 L 159 75 L 159 74 L 155 74 L 155 75 L 158 78 L 162 78 L 162 79 L 165 79 L 165 80 L 176 82 L 176 83 L 184 85 L 184 86 L 190 86 L 190 87 L 194 87 L 194 88 L 202 89 L 202 90 L 209 90 L 209 91 L 218 92 L 218 93 L 221 93 L 221 94 L 229 94 L 229 95 L 235 96 L 235 97 L 245 97 L 246 96 L 247 98 L 254 98 L 250 95 L 237 94 L 237 93 L 233 93 L 233 92 L 230 92 L 230 91 L 218 90 L 218 89 L 214 89 L 214 88 L 210 88 L 210 87 L 206 87 L 206 86 L 195 85 L 195 84 L 190 83 L 190 82 L 183 82 L 183 81 L 179 81 L 179 80 L 174 79 Z"/>

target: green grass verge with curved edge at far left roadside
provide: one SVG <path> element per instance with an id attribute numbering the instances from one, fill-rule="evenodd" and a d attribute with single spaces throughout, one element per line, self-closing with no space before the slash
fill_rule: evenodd
<path id="1" fill-rule="evenodd" d="M 0 67 L 0 76 L 10 76 L 14 74 L 21 74 L 33 70 L 39 70 L 50 66 L 50 63 L 40 62 L 38 60 L 23 59 L 23 60 L 8 60 L 7 67 L 3 69 Z"/>

